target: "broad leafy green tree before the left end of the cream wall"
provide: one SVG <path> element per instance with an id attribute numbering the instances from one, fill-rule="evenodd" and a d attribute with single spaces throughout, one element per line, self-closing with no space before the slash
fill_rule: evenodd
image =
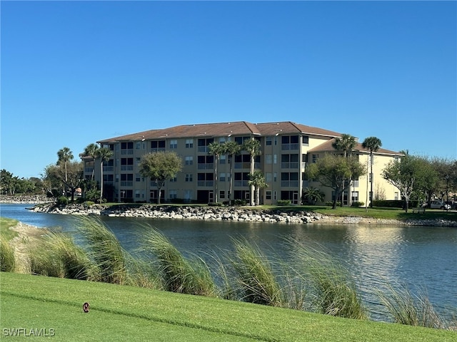
<path id="1" fill-rule="evenodd" d="M 355 157 L 341 157 L 329 153 L 310 164 L 307 170 L 309 179 L 318 180 L 323 186 L 331 187 L 334 190 L 332 209 L 336 208 L 337 199 L 348 189 L 351 181 L 365 173 L 366 167 L 361 165 Z"/>

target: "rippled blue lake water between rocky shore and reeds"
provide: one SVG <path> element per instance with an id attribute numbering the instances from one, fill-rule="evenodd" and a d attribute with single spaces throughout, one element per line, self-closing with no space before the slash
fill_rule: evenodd
<path id="1" fill-rule="evenodd" d="M 1 204 L 1 217 L 11 217 L 36 227 L 74 228 L 70 215 L 35 213 L 24 204 Z M 374 318 L 382 315 L 373 289 L 385 284 L 406 284 L 426 291 L 438 311 L 457 308 L 457 229 L 331 224 L 271 224 L 210 222 L 128 217 L 101 217 L 123 246 L 133 251 L 149 227 L 159 229 L 184 254 L 214 253 L 231 249 L 231 237 L 244 237 L 266 254 L 287 261 L 293 247 L 284 238 L 319 246 L 342 261 L 356 279 L 363 300 Z"/>

